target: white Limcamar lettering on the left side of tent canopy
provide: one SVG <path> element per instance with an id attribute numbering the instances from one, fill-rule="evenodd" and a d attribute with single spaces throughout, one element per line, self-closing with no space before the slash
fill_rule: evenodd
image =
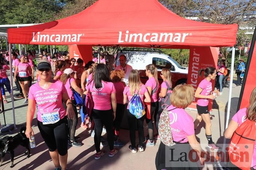
<path id="1" fill-rule="evenodd" d="M 40 32 L 33 32 L 32 42 L 79 42 L 80 34 L 40 34 Z"/>

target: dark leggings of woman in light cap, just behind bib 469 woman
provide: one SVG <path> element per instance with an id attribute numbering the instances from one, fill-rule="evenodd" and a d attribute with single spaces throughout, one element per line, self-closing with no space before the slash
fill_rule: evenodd
<path id="1" fill-rule="evenodd" d="M 76 101 L 75 100 L 71 100 L 72 101 L 72 107 L 73 110 L 75 112 L 75 116 L 73 117 L 73 119 L 68 119 L 68 134 L 70 137 L 70 141 L 75 141 L 75 133 L 76 133 L 76 125 L 78 122 L 78 114 L 77 114 L 77 110 L 76 110 Z"/>

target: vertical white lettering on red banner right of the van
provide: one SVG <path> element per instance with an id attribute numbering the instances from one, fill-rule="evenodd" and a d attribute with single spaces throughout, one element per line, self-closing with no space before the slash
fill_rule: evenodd
<path id="1" fill-rule="evenodd" d="M 194 48 L 193 59 L 192 59 L 193 63 L 192 63 L 191 85 L 193 86 L 194 90 L 196 91 L 200 54 L 197 54 L 195 50 L 196 49 Z M 195 101 L 196 101 L 196 98 L 194 97 L 193 102 L 195 102 Z"/>

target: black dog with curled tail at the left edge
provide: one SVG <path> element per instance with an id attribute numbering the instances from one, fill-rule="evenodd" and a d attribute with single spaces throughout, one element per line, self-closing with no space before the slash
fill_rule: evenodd
<path id="1" fill-rule="evenodd" d="M 14 149 L 18 147 L 19 145 L 26 147 L 27 149 L 27 158 L 30 157 L 30 149 L 29 149 L 29 139 L 25 135 L 26 127 L 23 126 L 20 129 L 20 133 L 15 135 L 14 137 L 6 136 L 2 139 L 0 139 L 0 157 L 1 157 L 1 163 L 2 165 L 4 161 L 4 156 L 6 153 L 11 154 L 11 165 L 10 167 L 13 167 L 13 161 L 14 161 Z"/>

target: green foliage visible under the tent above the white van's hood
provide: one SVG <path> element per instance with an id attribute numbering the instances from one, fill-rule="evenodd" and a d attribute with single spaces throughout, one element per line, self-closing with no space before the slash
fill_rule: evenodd
<path id="1" fill-rule="evenodd" d="M 159 49 L 163 51 L 166 55 L 171 55 L 171 57 L 176 60 L 179 64 L 183 66 L 188 66 L 189 63 L 189 50 L 187 49 Z"/>

